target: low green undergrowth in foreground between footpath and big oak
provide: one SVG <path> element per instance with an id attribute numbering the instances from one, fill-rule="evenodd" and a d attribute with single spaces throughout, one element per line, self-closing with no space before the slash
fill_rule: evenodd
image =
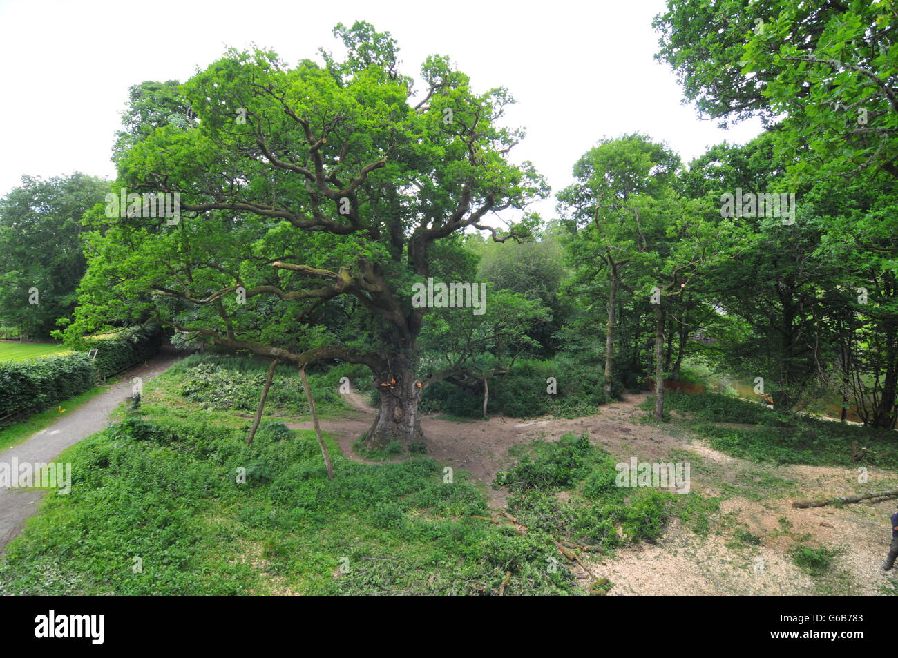
<path id="1" fill-rule="evenodd" d="M 550 538 L 471 519 L 483 496 L 429 459 L 373 467 L 335 452 L 328 480 L 312 432 L 266 424 L 247 446 L 201 417 L 159 417 L 118 423 L 66 460 L 72 493 L 50 496 L 0 559 L 4 594 L 267 592 L 251 547 L 295 592 L 496 593 L 509 571 L 508 594 L 577 592 L 568 569 L 547 570 Z"/>

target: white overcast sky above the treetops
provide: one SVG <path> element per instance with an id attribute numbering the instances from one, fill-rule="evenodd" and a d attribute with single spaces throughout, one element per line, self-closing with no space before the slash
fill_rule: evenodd
<path id="1" fill-rule="evenodd" d="M 724 139 L 757 135 L 755 121 L 723 131 L 681 105 L 674 74 L 653 57 L 651 21 L 663 8 L 664 0 L 0 0 L 0 195 L 22 174 L 113 178 L 110 146 L 132 84 L 184 81 L 227 46 L 251 42 L 290 64 L 317 59 L 319 46 L 339 52 L 336 23 L 357 20 L 392 32 L 404 73 L 417 76 L 436 53 L 471 75 L 475 90 L 506 86 L 517 100 L 507 123 L 527 131 L 514 159 L 532 160 L 553 193 L 606 136 L 644 132 L 689 162 Z M 553 216 L 554 202 L 538 209 Z"/>

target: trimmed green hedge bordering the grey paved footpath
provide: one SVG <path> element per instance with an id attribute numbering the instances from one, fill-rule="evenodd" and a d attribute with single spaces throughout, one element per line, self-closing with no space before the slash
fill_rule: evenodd
<path id="1" fill-rule="evenodd" d="M 45 356 L 0 364 L 0 418 L 15 412 L 38 413 L 90 389 L 101 378 L 145 361 L 162 341 L 153 329 L 125 329 L 110 338 L 96 338 L 98 350 L 90 359 L 86 352 Z"/>

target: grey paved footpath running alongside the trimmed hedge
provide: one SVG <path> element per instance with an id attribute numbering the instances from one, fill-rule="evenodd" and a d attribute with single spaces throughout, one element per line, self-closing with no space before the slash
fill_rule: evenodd
<path id="1" fill-rule="evenodd" d="M 112 410 L 131 394 L 132 377 L 141 377 L 144 383 L 149 382 L 183 355 L 186 353 L 176 352 L 172 347 L 163 347 L 146 365 L 119 375 L 121 381 L 111 386 L 110 390 L 85 402 L 74 411 L 66 411 L 52 426 L 40 430 L 23 443 L 0 452 L 0 462 L 11 463 L 13 457 L 18 458 L 19 463 L 53 461 L 69 446 L 109 426 Z M 38 512 L 38 502 L 48 493 L 47 489 L 0 489 L 0 553 L 22 531 L 25 520 Z"/>

